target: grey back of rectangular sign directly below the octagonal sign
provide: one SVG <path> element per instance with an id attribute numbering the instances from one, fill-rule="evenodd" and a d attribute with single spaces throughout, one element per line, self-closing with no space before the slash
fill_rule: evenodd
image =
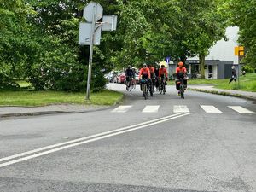
<path id="1" fill-rule="evenodd" d="M 79 26 L 79 44 L 90 45 L 91 38 L 91 23 L 80 23 Z M 99 45 L 101 43 L 102 26 L 100 24 L 95 25 L 96 31 L 94 33 L 93 44 Z"/>

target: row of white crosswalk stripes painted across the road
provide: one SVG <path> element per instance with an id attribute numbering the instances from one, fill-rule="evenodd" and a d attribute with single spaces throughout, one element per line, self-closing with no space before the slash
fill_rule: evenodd
<path id="1" fill-rule="evenodd" d="M 199 105 L 201 108 L 201 112 L 203 113 L 224 113 L 224 112 L 236 112 L 241 114 L 255 114 L 255 112 L 243 108 L 241 106 L 224 106 L 221 107 L 222 109 L 216 108 L 213 105 Z M 132 105 L 120 105 L 118 108 L 114 108 L 111 113 L 126 113 L 129 112 L 129 110 L 132 110 L 134 106 Z M 158 113 L 161 108 L 166 108 L 166 106 L 160 106 L 160 105 L 146 105 L 143 108 L 139 108 L 139 110 L 142 113 Z M 228 109 L 226 109 L 228 108 Z M 186 105 L 173 105 L 171 108 L 168 106 L 168 109 L 170 109 L 173 113 L 189 113 L 193 110 L 189 110 L 189 107 Z M 195 108 L 194 108 L 195 109 Z M 224 110 L 224 111 L 222 111 Z M 195 113 L 196 111 L 194 111 Z"/>

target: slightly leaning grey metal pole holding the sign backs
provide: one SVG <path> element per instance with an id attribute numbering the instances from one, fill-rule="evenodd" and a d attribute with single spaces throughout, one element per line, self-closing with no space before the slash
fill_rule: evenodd
<path id="1" fill-rule="evenodd" d="M 91 66 L 92 66 L 94 32 L 95 32 L 95 23 L 96 23 L 95 18 L 96 18 L 96 5 L 93 6 L 93 15 L 92 15 L 92 23 L 91 23 L 90 55 L 89 55 L 88 77 L 87 77 L 87 90 L 86 90 L 86 98 L 85 98 L 86 100 L 90 100 Z"/>

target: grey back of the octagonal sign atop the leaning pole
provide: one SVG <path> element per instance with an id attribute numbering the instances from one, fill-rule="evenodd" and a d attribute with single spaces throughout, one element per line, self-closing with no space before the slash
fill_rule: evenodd
<path id="1" fill-rule="evenodd" d="M 96 18 L 95 20 L 92 20 L 94 15 L 94 8 L 96 9 Z M 102 18 L 102 15 L 103 15 L 103 8 L 102 8 L 102 5 L 100 5 L 100 3 L 90 2 L 84 7 L 83 16 L 85 20 L 87 20 L 87 22 L 100 20 Z"/>

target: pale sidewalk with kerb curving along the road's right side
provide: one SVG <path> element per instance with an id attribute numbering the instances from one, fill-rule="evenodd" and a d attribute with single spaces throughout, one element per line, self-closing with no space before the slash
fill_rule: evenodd
<path id="1" fill-rule="evenodd" d="M 188 89 L 224 96 L 236 96 L 256 101 L 256 92 L 242 90 L 221 90 L 214 88 L 213 84 L 189 84 Z"/>

